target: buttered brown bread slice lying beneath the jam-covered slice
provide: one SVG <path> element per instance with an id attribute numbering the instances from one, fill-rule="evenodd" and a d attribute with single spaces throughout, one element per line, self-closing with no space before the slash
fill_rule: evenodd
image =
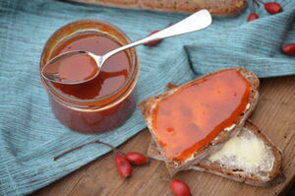
<path id="1" fill-rule="evenodd" d="M 153 139 L 147 156 L 163 161 Z M 285 180 L 281 166 L 281 152 L 248 119 L 239 134 L 228 140 L 223 148 L 189 169 L 266 187 Z"/>

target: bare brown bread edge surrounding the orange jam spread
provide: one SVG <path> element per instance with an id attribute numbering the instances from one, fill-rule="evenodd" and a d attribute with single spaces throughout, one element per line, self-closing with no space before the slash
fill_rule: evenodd
<path id="1" fill-rule="evenodd" d="M 241 113 L 239 118 L 236 120 L 234 124 L 231 126 L 224 128 L 223 130 L 220 130 L 220 132 L 217 134 L 213 140 L 207 144 L 205 144 L 201 149 L 194 151 L 190 154 L 190 157 L 186 158 L 185 160 L 173 160 L 169 157 L 167 157 L 165 154 L 165 149 L 162 144 L 160 144 L 162 141 L 158 141 L 156 130 L 153 130 L 153 112 L 156 108 L 157 104 L 164 99 L 168 99 L 170 95 L 173 95 L 174 93 L 178 93 L 181 90 L 183 90 L 185 87 L 190 85 L 198 85 L 200 81 L 207 80 L 208 77 L 210 77 L 212 74 L 219 74 L 223 71 L 237 71 L 241 76 L 243 76 L 246 80 L 248 80 L 250 85 L 250 94 L 249 94 L 249 100 L 247 107 L 244 109 L 244 112 Z M 147 122 L 148 128 L 150 133 L 153 136 L 153 139 L 156 141 L 158 150 L 161 153 L 161 156 L 164 158 L 164 161 L 166 163 L 166 166 L 168 168 L 168 171 L 171 176 L 173 176 L 175 173 L 181 170 L 186 170 L 190 166 L 197 164 L 200 162 L 203 158 L 206 156 L 216 152 L 220 148 L 222 148 L 224 142 L 228 141 L 231 137 L 237 135 L 239 133 L 239 129 L 244 126 L 245 120 L 249 117 L 251 112 L 256 106 L 257 100 L 258 100 L 258 86 L 259 86 L 259 80 L 253 74 L 252 72 L 249 72 L 248 70 L 244 68 L 229 68 L 217 71 L 212 74 L 207 74 L 205 76 L 202 76 L 201 78 L 194 79 L 190 81 L 187 84 L 183 84 L 181 86 L 175 87 L 174 89 L 166 91 L 164 94 L 156 95 L 153 97 L 150 97 L 146 99 L 145 101 L 142 101 L 138 105 L 140 110 L 142 111 L 142 114 Z M 210 89 L 208 89 L 210 90 Z M 218 112 L 218 111 L 216 111 Z M 173 121 L 175 119 L 171 119 Z M 177 136 L 178 137 L 178 136 Z"/>

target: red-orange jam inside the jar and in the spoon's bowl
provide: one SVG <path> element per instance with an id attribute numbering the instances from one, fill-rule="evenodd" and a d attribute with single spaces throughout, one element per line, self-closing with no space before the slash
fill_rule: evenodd
<path id="1" fill-rule="evenodd" d="M 58 46 L 54 51 L 53 56 L 73 50 L 88 51 L 96 55 L 104 55 L 105 53 L 118 47 L 121 47 L 121 45 L 107 35 L 78 35 Z M 72 64 L 73 72 L 68 72 L 70 68 L 66 67 L 67 70 L 64 70 L 64 74 L 66 74 L 67 78 L 75 78 L 77 76 L 75 75 L 77 74 L 77 71 L 80 71 L 74 70 L 74 67 L 77 65 L 83 66 L 80 69 L 84 69 L 84 71 L 91 75 L 91 65 L 93 62 L 89 63 L 90 64 L 88 64 L 87 68 L 85 66 L 85 59 L 80 58 Z M 71 65 L 70 63 L 67 64 Z M 71 85 L 53 83 L 53 85 L 63 93 L 78 99 L 96 99 L 110 95 L 118 90 L 126 82 L 130 73 L 130 68 L 130 61 L 126 52 L 119 52 L 105 61 L 100 73 L 93 80 L 82 84 Z"/>

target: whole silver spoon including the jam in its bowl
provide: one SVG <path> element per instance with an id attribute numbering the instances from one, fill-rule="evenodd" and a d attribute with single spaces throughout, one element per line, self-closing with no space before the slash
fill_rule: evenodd
<path id="1" fill-rule="evenodd" d="M 147 42 L 181 35 L 206 28 L 212 23 L 212 17 L 208 10 L 200 10 L 195 14 L 171 25 L 155 34 L 141 40 L 121 46 L 103 56 L 86 51 L 64 52 L 52 58 L 43 67 L 41 73 L 45 79 L 62 84 L 80 84 L 98 76 L 104 62 L 118 52 L 124 51 Z M 79 64 L 78 64 L 79 63 Z M 83 65 L 83 66 L 81 66 Z"/>

